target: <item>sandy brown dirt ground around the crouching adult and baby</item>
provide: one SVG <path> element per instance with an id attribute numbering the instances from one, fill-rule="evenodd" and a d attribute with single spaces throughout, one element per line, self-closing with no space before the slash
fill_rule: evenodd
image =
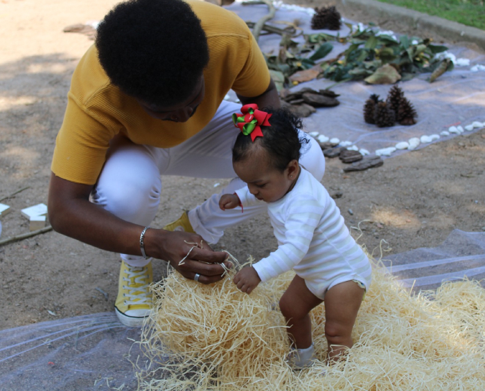
<path id="1" fill-rule="evenodd" d="M 26 188 L 0 201 L 12 208 L 1 217 L 2 239 L 28 232 L 20 210 L 47 201 L 51 156 L 71 74 L 92 44 L 85 35 L 62 29 L 99 20 L 117 2 L 0 0 L 0 199 Z M 370 20 L 351 10 L 342 13 Z M 381 22 L 385 28 L 407 32 L 397 21 Z M 432 36 L 421 32 L 425 34 Z M 436 246 L 455 228 L 485 230 L 484 129 L 389 158 L 382 167 L 365 172 L 344 174 L 340 161 L 326 163 L 324 185 L 330 194 L 342 193 L 337 205 L 348 226 L 360 223 L 360 243 L 370 250 L 382 239 L 389 243 L 390 253 L 399 253 Z M 161 228 L 177 219 L 182 210 L 201 203 L 224 183 L 164 178 L 152 226 Z M 249 254 L 263 257 L 275 244 L 262 216 L 228 230 L 217 248 L 245 259 Z M 119 262 L 114 253 L 54 232 L 1 246 L 0 329 L 112 311 Z M 161 278 L 164 267 L 164 262 L 155 262 L 155 278 Z"/>

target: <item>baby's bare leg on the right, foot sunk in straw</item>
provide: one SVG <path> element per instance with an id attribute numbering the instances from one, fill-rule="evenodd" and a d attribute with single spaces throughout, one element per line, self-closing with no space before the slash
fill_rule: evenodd
<path id="1" fill-rule="evenodd" d="M 352 347 L 352 329 L 364 292 L 355 281 L 346 281 L 328 289 L 325 294 L 328 361 L 338 360 L 346 347 Z"/>

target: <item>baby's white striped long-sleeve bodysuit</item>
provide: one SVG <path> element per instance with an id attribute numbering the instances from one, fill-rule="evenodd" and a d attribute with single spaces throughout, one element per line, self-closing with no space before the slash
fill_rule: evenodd
<path id="1" fill-rule="evenodd" d="M 341 282 L 355 280 L 369 290 L 369 259 L 351 237 L 324 186 L 300 168 L 294 188 L 278 201 L 267 203 L 278 248 L 254 264 L 254 269 L 262 282 L 294 269 L 321 300 Z M 243 207 L 263 202 L 247 186 L 236 194 Z"/>

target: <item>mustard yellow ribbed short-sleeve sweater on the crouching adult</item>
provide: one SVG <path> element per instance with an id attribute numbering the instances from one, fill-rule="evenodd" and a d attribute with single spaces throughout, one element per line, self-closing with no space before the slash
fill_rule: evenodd
<path id="1" fill-rule="evenodd" d="M 267 89 L 270 73 L 245 22 L 211 3 L 187 3 L 202 21 L 209 44 L 205 96 L 195 115 L 187 122 L 150 117 L 134 98 L 109 82 L 96 47 L 91 46 L 73 73 L 51 165 L 55 175 L 92 185 L 105 163 L 109 140 L 116 134 L 136 144 L 174 147 L 209 123 L 229 89 L 241 96 L 258 96 Z"/>

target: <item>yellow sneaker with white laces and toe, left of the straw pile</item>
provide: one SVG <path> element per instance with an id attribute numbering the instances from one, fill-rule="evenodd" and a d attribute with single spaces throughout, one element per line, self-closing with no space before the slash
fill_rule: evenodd
<path id="1" fill-rule="evenodd" d="M 140 327 L 150 315 L 153 299 L 149 286 L 152 281 L 152 262 L 143 267 L 135 267 L 121 261 L 114 311 L 123 325 Z"/>

